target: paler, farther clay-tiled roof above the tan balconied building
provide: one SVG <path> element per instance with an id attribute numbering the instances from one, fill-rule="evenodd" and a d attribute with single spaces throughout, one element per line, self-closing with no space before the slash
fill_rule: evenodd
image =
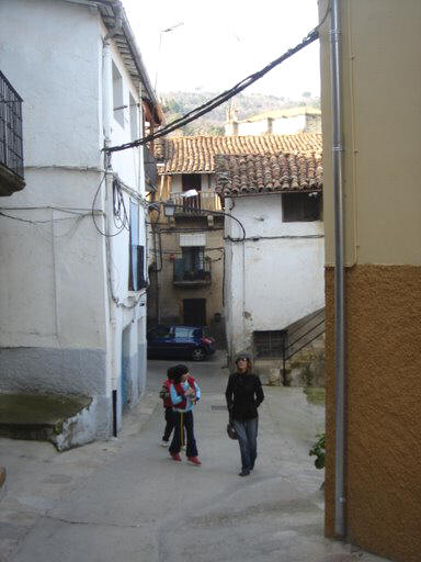
<path id="1" fill-rule="evenodd" d="M 157 151 L 164 166 L 160 173 L 197 173 L 215 170 L 215 155 L 280 155 L 321 153 L 321 135 L 181 136 L 166 138 Z"/>

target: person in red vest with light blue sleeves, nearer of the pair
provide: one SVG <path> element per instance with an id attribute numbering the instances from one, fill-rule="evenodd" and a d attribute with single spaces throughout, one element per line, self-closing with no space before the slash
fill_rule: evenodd
<path id="1" fill-rule="evenodd" d="M 192 464 L 200 467 L 197 459 L 196 439 L 193 427 L 193 406 L 201 400 L 201 389 L 189 373 L 185 364 L 178 364 L 172 371 L 170 397 L 175 415 L 174 435 L 170 446 L 170 454 L 174 461 L 181 461 L 180 450 L 184 445 L 184 428 L 187 437 L 186 457 Z"/>

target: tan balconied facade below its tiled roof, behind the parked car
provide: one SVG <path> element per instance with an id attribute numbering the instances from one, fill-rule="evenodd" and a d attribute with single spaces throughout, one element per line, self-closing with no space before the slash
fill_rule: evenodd
<path id="1" fill-rule="evenodd" d="M 171 202 L 174 214 L 153 223 L 150 252 L 159 257 L 150 273 L 148 316 L 150 325 L 207 326 L 224 347 L 224 217 L 214 181 L 213 173 L 161 175 L 157 200 Z M 158 220 L 153 213 L 151 218 Z"/>

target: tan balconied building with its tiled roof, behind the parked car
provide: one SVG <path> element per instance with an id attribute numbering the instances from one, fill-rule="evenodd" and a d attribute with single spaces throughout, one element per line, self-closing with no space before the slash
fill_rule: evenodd
<path id="1" fill-rule="evenodd" d="M 151 324 L 204 323 L 218 345 L 226 346 L 230 304 L 224 289 L 224 213 L 231 211 L 217 191 L 215 160 L 218 155 L 274 156 L 299 150 L 320 153 L 321 135 L 183 136 L 169 137 L 160 144 L 160 188 L 155 199 L 172 202 L 175 212 L 170 222 L 162 215 L 152 215 L 157 222 L 153 248 L 158 248 L 162 260 L 157 274 L 151 273 Z M 151 248 L 150 252 L 156 255 L 157 250 Z M 185 271 L 192 262 L 196 263 L 195 279 L 189 279 L 190 272 Z"/>

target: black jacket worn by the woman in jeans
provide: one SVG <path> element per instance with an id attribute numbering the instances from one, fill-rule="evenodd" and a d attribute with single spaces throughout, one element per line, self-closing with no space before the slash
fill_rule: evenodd
<path id="1" fill-rule="evenodd" d="M 258 407 L 264 400 L 262 383 L 257 374 L 232 373 L 225 397 L 232 419 L 253 419 L 258 417 Z"/>

